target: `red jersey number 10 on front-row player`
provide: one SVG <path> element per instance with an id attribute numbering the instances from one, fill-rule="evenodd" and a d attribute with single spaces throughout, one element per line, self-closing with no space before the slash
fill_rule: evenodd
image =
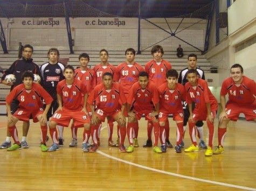
<path id="1" fill-rule="evenodd" d="M 57 85 L 57 93 L 62 98 L 63 107 L 70 110 L 82 108 L 81 100 L 87 93 L 86 85 L 80 80 L 74 78 L 71 85 L 66 84 L 66 80 L 62 80 Z"/>

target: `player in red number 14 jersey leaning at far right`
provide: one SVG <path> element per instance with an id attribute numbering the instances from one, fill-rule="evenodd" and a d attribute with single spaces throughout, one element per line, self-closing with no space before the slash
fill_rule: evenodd
<path id="1" fill-rule="evenodd" d="M 244 76 L 244 69 L 240 64 L 232 65 L 230 73 L 231 77 L 223 81 L 220 91 L 222 112 L 219 115 L 219 146 L 213 154 L 224 153 L 223 143 L 230 120 L 237 121 L 239 114 L 244 113 L 247 121 L 256 122 L 256 83 Z M 227 103 L 226 94 L 229 94 Z"/>

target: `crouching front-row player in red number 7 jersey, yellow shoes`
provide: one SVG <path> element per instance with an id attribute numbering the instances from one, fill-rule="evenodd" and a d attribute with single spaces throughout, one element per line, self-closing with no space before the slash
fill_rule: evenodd
<path id="1" fill-rule="evenodd" d="M 129 139 L 129 147 L 127 152 L 133 152 L 133 131 L 134 123 L 141 119 L 144 114 L 146 119 L 152 121 L 153 132 L 154 132 L 154 148 L 153 151 L 156 153 L 162 153 L 161 149 L 158 148 L 158 138 L 160 133 L 160 127 L 158 124 L 158 113 L 159 113 L 159 96 L 157 87 L 153 82 L 149 82 L 148 73 L 145 71 L 140 72 L 139 81 L 136 82 L 127 98 L 127 111 L 128 111 L 128 124 L 127 133 Z"/>

